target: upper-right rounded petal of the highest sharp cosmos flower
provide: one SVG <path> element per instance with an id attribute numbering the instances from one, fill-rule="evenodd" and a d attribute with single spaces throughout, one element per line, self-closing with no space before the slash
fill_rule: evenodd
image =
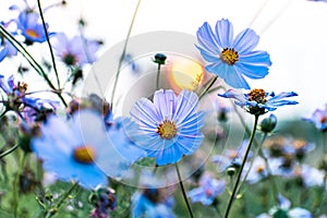
<path id="1" fill-rule="evenodd" d="M 238 34 L 232 48 L 235 48 L 240 55 L 246 53 L 253 50 L 259 40 L 259 36 L 251 28 L 246 28 Z"/>

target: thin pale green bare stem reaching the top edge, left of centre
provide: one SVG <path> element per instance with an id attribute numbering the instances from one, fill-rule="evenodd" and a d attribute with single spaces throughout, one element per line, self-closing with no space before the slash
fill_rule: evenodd
<path id="1" fill-rule="evenodd" d="M 113 83 L 113 88 L 112 88 L 111 100 L 110 100 L 111 111 L 112 111 L 112 106 L 113 106 L 113 99 L 114 99 L 114 95 L 116 95 L 118 78 L 119 78 L 119 75 L 120 75 L 120 69 L 121 69 L 122 62 L 123 62 L 125 53 L 126 53 L 128 44 L 129 44 L 129 40 L 130 40 L 130 37 L 131 37 L 132 28 L 134 26 L 134 22 L 135 22 L 135 19 L 136 19 L 136 14 L 137 14 L 141 1 L 142 0 L 138 0 L 138 2 L 136 4 L 136 8 L 135 8 L 135 11 L 134 11 L 134 14 L 133 14 L 133 19 L 132 19 L 132 22 L 131 22 L 131 25 L 130 25 L 130 28 L 129 28 L 129 32 L 128 32 L 128 36 L 126 36 L 126 39 L 125 39 L 125 43 L 124 43 L 124 47 L 123 47 L 123 50 L 122 50 L 122 53 L 121 53 L 121 57 L 120 57 L 120 60 L 119 60 L 119 63 L 118 63 L 117 73 L 116 73 L 114 83 Z"/>

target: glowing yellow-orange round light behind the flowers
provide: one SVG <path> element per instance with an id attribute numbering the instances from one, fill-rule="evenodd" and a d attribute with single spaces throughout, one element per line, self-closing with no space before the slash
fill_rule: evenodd
<path id="1" fill-rule="evenodd" d="M 167 73 L 169 85 L 175 93 L 182 89 L 197 90 L 204 82 L 204 66 L 194 60 L 174 57 Z"/>

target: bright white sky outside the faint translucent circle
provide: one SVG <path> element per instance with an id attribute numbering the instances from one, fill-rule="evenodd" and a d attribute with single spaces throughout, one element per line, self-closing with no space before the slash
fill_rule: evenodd
<path id="1" fill-rule="evenodd" d="M 8 19 L 8 7 L 23 0 L 1 0 L 0 14 Z M 87 22 L 86 35 L 100 37 L 106 48 L 123 40 L 136 0 L 66 0 L 65 9 L 46 14 L 56 32 L 77 33 L 76 21 Z M 36 5 L 36 1 L 28 1 Z M 55 1 L 44 0 L 44 7 Z M 262 8 L 259 14 L 258 11 Z M 261 35 L 257 49 L 270 53 L 270 73 L 252 87 L 266 90 L 294 90 L 299 106 L 278 109 L 277 113 L 308 117 L 327 102 L 327 3 L 307 0 L 143 0 L 132 36 L 152 31 L 178 31 L 195 35 L 207 21 L 215 25 L 229 19 L 234 33 L 251 27 Z M 252 20 L 255 19 L 254 22 Z M 0 71 L 4 69 L 0 64 Z M 291 108 L 292 107 L 292 108 Z"/>

